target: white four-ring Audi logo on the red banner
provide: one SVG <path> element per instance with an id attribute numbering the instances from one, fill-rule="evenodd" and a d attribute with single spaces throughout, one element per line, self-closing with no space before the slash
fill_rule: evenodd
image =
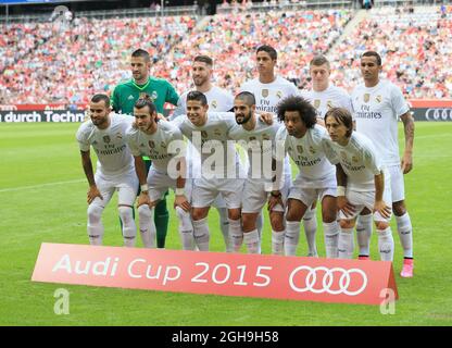
<path id="1" fill-rule="evenodd" d="M 303 270 L 307 271 L 307 274 L 304 278 L 304 286 L 299 287 L 294 284 L 294 277 L 300 271 Z M 317 283 L 317 276 L 319 276 L 323 272 L 325 273 L 322 277 L 322 287 L 316 288 L 314 286 Z M 338 282 L 335 282 L 335 279 Z M 361 287 L 355 290 L 351 290 L 350 285 L 352 283 L 352 279 L 354 281 L 353 284 L 356 284 L 356 282 L 359 282 L 357 284 L 360 284 Z M 344 270 L 341 268 L 327 269 L 325 266 L 310 268 L 307 265 L 301 265 L 293 270 L 292 274 L 290 275 L 289 282 L 291 288 L 297 293 L 311 291 L 314 294 L 327 293 L 330 295 L 344 294 L 348 296 L 356 296 L 363 293 L 366 288 L 367 275 L 364 273 L 364 271 L 359 269 Z M 332 285 L 337 283 L 339 284 L 339 286 L 337 288 L 334 288 Z M 303 284 L 299 285 L 301 286 Z"/>

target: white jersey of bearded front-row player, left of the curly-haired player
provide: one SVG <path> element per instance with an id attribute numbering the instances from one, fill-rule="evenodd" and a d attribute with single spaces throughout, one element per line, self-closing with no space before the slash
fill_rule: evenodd
<path id="1" fill-rule="evenodd" d="M 273 119 L 272 125 L 261 121 L 259 114 L 254 116 L 256 119 L 254 129 L 247 130 L 242 125 L 236 123 L 230 129 L 229 136 L 247 151 L 248 177 L 258 181 L 271 179 L 275 137 L 281 124 L 276 116 Z M 285 165 L 289 165 L 289 158 L 286 158 Z"/>

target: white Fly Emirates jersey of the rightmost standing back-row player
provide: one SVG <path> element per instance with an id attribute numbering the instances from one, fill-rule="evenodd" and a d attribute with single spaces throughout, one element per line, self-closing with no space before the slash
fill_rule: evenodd
<path id="1" fill-rule="evenodd" d="M 352 105 L 356 130 L 374 142 L 386 165 L 400 164 L 398 121 L 410 111 L 400 88 L 389 80 L 371 88 L 361 84 L 352 92 Z"/>

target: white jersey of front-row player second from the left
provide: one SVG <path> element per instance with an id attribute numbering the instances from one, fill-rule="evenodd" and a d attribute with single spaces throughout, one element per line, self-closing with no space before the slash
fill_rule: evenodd
<path id="1" fill-rule="evenodd" d="M 186 146 L 183 134 L 170 122 L 159 121 L 154 134 L 146 134 L 138 128 L 130 127 L 126 136 L 131 153 L 149 157 L 152 167 L 160 173 L 167 173 L 168 163 L 173 158 L 185 156 Z"/>

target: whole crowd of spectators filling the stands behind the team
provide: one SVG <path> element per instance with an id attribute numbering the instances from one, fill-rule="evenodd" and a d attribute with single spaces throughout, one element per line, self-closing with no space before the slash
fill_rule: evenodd
<path id="1" fill-rule="evenodd" d="M 251 2 L 250 2 L 251 3 Z M 428 10 L 430 9 L 430 10 Z M 176 90 L 191 88 L 191 60 L 214 59 L 215 84 L 237 92 L 256 75 L 255 49 L 278 51 L 278 74 L 310 88 L 309 62 L 326 54 L 332 80 L 351 90 L 361 82 L 360 55 L 374 49 L 384 74 L 409 98 L 451 98 L 452 13 L 448 9 L 371 10 L 339 45 L 351 10 L 233 12 L 198 25 L 194 17 L 87 20 L 0 26 L 0 104 L 85 103 L 130 77 L 136 48 L 152 57 L 151 75 Z"/>

